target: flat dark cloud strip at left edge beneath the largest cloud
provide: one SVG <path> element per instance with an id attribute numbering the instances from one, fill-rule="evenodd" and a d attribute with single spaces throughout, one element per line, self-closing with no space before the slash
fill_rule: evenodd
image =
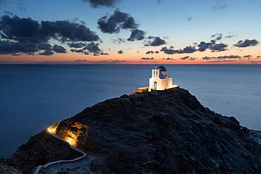
<path id="1" fill-rule="evenodd" d="M 16 54 L 16 53 L 34 53 L 39 51 L 37 44 L 19 42 L 1 41 L 0 40 L 0 54 Z"/>

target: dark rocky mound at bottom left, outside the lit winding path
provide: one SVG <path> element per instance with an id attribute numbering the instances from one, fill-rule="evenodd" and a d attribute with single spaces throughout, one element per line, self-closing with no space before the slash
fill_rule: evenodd
<path id="1" fill-rule="evenodd" d="M 31 137 L 8 159 L 0 159 L 0 162 L 19 168 L 23 173 L 31 173 L 37 166 L 57 160 L 75 159 L 78 156 L 82 154 L 68 147 L 65 142 L 48 135 L 44 130 Z"/>

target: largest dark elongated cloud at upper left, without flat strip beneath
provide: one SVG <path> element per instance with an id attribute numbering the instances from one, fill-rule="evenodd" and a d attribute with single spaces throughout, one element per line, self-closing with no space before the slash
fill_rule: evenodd
<path id="1" fill-rule="evenodd" d="M 99 37 L 89 28 L 78 23 L 71 23 L 68 20 L 41 21 L 32 18 L 19 18 L 8 15 L 1 16 L 0 19 L 1 37 L 4 39 L 14 39 L 18 42 L 47 42 L 49 39 L 59 39 L 66 41 L 97 41 Z"/>

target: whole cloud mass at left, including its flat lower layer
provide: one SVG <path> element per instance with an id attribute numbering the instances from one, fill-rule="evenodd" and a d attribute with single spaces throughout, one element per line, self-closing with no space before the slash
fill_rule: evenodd
<path id="1" fill-rule="evenodd" d="M 3 15 L 0 18 L 1 39 L 6 42 L 5 49 L 0 49 L 1 54 L 26 53 L 50 50 L 50 39 L 63 42 L 92 42 L 99 37 L 89 28 L 68 20 L 41 21 L 32 18 L 12 18 Z M 4 42 L 1 42 L 3 44 Z M 57 47 L 57 51 L 65 53 L 64 49 Z"/>

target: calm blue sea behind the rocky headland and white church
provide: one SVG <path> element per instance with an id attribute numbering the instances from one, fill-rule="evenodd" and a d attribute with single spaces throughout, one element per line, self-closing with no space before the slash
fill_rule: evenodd
<path id="1" fill-rule="evenodd" d="M 0 65 L 0 158 L 99 101 L 148 85 L 158 65 Z M 166 65 L 204 106 L 261 130 L 260 65 Z"/>

